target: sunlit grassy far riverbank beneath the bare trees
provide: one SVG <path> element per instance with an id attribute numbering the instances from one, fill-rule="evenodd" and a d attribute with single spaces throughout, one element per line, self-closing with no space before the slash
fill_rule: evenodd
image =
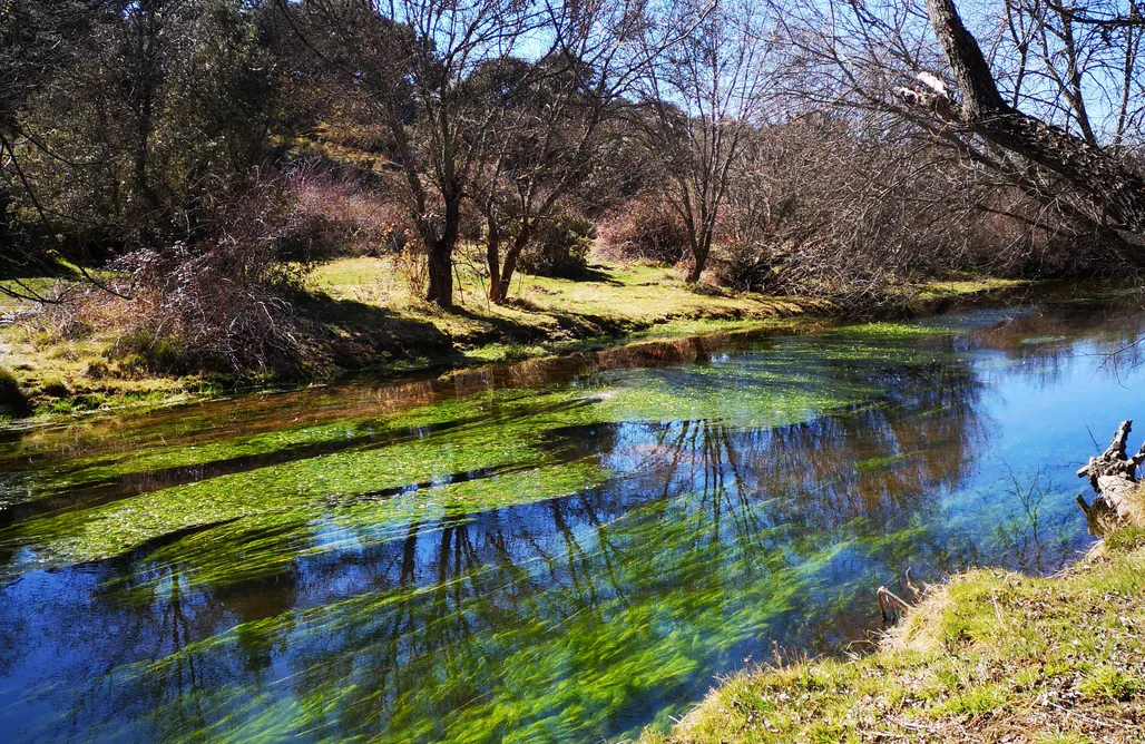
<path id="1" fill-rule="evenodd" d="M 52 418 L 159 406 L 238 390 L 299 387 L 358 374 L 384 379 L 522 361 L 641 339 L 749 330 L 803 318 L 842 317 L 821 299 L 688 286 L 669 267 L 598 262 L 577 280 L 522 277 L 507 306 L 488 302 L 482 282 L 460 269 L 460 307 L 419 299 L 387 260 L 361 258 L 310 271 L 294 300 L 305 358 L 289 374 L 175 374 L 124 354 L 116 329 L 70 337 L 32 306 L 0 307 L 0 411 Z M 1022 286 L 964 278 L 895 287 L 886 307 L 926 309 Z M 0 413 L 3 415 L 3 413 Z"/>

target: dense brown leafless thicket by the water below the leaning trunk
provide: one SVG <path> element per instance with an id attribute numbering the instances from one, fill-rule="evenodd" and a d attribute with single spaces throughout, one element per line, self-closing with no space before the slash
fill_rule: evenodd
<path id="1" fill-rule="evenodd" d="M 805 117 L 757 133 L 736 166 L 713 266 L 735 290 L 863 302 L 955 271 L 1089 276 L 1107 255 L 1079 250 L 1085 236 L 1065 215 L 902 124 Z"/>

